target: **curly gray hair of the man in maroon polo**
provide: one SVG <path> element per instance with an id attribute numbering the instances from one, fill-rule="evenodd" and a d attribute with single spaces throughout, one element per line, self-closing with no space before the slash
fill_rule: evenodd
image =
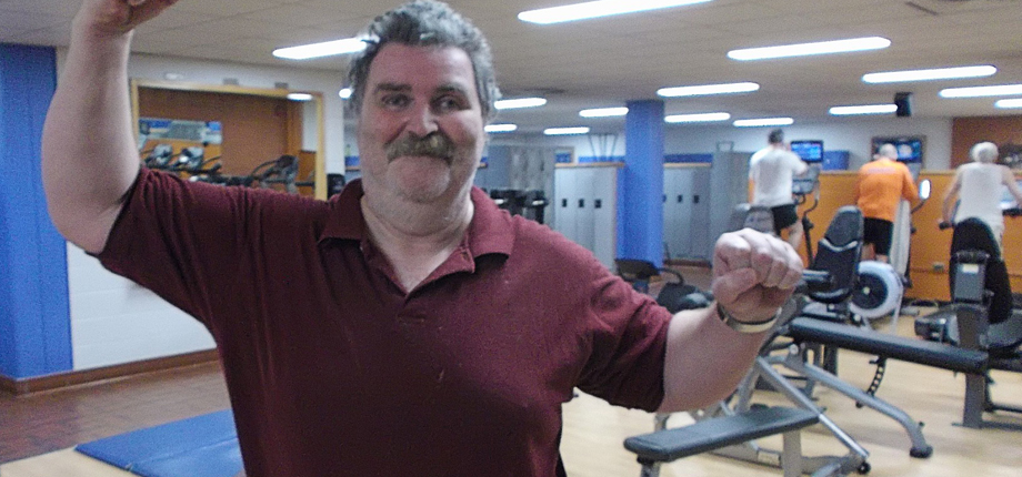
<path id="1" fill-rule="evenodd" d="M 455 47 L 468 53 L 475 73 L 482 116 L 487 121 L 493 119 L 497 112 L 493 103 L 500 99 L 500 90 L 497 88 L 490 43 L 478 28 L 447 3 L 434 0 L 405 3 L 377 17 L 369 24 L 364 38 L 365 49 L 355 53 L 348 67 L 348 85 L 351 88 L 348 106 L 355 115 L 362 111 L 372 60 L 384 44 L 393 42 L 412 47 Z"/>

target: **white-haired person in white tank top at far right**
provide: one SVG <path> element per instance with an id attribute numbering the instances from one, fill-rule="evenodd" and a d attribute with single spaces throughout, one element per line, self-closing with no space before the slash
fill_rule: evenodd
<path id="1" fill-rule="evenodd" d="M 992 142 L 980 142 L 972 146 L 969 155 L 973 162 L 955 170 L 951 187 L 944 194 L 943 220 L 948 223 L 953 220 L 956 224 L 965 219 L 979 219 L 990 227 L 1000 245 L 1001 235 L 1004 234 L 1001 186 L 1006 186 L 1019 204 L 1022 204 L 1022 189 L 1019 189 L 1010 169 L 994 163 L 998 154 L 998 146 Z M 955 197 L 959 200 L 956 211 Z"/>

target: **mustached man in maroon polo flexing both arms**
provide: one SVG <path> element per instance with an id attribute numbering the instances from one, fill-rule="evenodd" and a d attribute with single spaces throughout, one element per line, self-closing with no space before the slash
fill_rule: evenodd
<path id="1" fill-rule="evenodd" d="M 434 1 L 370 26 L 349 73 L 363 179 L 331 201 L 140 170 L 129 43 L 172 3 L 84 0 L 44 130 L 47 196 L 71 242 L 210 329 L 252 477 L 563 475 L 573 388 L 712 403 L 801 275 L 782 241 L 724 234 L 717 305 L 672 317 L 500 211 L 472 187 L 499 98 L 490 50 Z"/>

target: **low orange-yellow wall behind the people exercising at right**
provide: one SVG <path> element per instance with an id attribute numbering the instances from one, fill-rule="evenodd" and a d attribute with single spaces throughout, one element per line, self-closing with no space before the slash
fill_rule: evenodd
<path id="1" fill-rule="evenodd" d="M 940 231 L 936 227 L 941 217 L 941 202 L 944 191 L 951 184 L 952 171 L 923 171 L 920 179 L 929 179 L 933 189 L 930 200 L 915 214 L 912 223 L 916 233 L 912 236 L 912 253 L 910 276 L 913 287 L 905 291 L 905 296 L 912 298 L 949 300 L 948 292 L 948 262 L 951 250 L 951 231 Z M 823 237 L 826 226 L 834 213 L 842 205 L 853 204 L 855 200 L 855 172 L 824 172 L 820 174 L 820 205 L 809 214 L 815 224 L 812 230 L 813 246 Z M 812 201 L 810 200 L 810 203 Z M 801 207 L 799 213 L 805 209 Z M 1022 291 L 1022 256 L 1014 253 L 1012 244 L 1022 243 L 1022 221 L 1004 219 L 1004 255 L 1008 262 L 1008 272 L 1011 276 L 1011 287 Z M 799 251 L 805 257 L 804 246 Z"/>

